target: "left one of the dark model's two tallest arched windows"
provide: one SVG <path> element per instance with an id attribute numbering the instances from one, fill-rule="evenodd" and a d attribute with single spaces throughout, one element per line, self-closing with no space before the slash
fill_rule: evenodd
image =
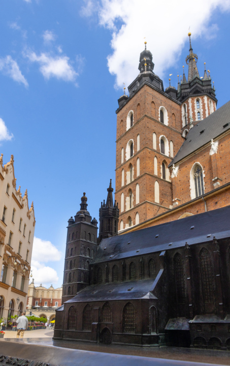
<path id="1" fill-rule="evenodd" d="M 176 284 L 177 303 L 185 303 L 185 283 L 183 260 L 179 253 L 174 256 L 174 279 Z"/>

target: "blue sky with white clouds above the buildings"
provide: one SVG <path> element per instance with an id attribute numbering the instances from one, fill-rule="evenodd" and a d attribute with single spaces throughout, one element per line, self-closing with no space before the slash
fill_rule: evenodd
<path id="1" fill-rule="evenodd" d="M 182 0 L 0 4 L 1 153 L 4 163 L 14 155 L 17 188 L 34 201 L 35 282 L 56 287 L 83 191 L 98 220 L 110 178 L 115 186 L 117 99 L 138 75 L 144 41 L 165 88 L 169 74 L 177 86 L 190 26 L 200 75 L 206 62 L 220 107 L 229 100 L 230 1 L 194 0 L 194 9 Z"/>

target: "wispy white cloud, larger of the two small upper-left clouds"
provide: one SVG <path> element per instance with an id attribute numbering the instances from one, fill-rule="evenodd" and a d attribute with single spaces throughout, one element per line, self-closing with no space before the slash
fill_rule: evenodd
<path id="1" fill-rule="evenodd" d="M 56 77 L 64 81 L 75 81 L 78 76 L 67 56 L 51 56 L 49 53 L 38 55 L 32 51 L 28 51 L 26 56 L 31 62 L 37 62 L 40 65 L 40 71 L 45 79 Z"/>

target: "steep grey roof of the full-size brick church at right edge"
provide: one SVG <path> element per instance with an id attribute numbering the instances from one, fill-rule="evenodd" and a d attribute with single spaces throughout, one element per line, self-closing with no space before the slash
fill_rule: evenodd
<path id="1" fill-rule="evenodd" d="M 199 149 L 211 139 L 215 139 L 223 132 L 230 129 L 230 101 L 210 114 L 207 118 L 201 120 L 197 125 L 192 127 L 185 137 L 181 148 L 173 161 L 169 164 L 171 167 L 176 165 L 180 160 L 184 159 L 193 151 Z"/>

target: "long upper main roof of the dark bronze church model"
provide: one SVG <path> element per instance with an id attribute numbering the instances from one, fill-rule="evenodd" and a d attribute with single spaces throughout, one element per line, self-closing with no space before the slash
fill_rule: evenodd
<path id="1" fill-rule="evenodd" d="M 230 237 L 230 206 L 103 239 L 90 264 Z"/>

